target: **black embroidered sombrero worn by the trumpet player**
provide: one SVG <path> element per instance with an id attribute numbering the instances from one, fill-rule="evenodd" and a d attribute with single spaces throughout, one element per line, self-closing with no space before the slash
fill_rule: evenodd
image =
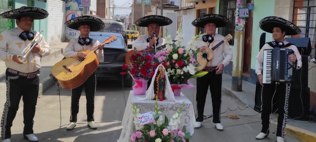
<path id="1" fill-rule="evenodd" d="M 18 9 L 8 9 L 0 13 L 3 18 L 18 19 L 23 16 L 32 17 L 33 20 L 45 19 L 48 17 L 48 12 L 39 7 L 22 6 Z"/>

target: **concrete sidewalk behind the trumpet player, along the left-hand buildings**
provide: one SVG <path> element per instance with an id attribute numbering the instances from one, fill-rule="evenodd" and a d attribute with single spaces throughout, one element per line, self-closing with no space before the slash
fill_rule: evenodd
<path id="1" fill-rule="evenodd" d="M 49 77 L 51 74 L 52 66 L 59 62 L 63 57 L 63 49 L 68 42 L 62 42 L 56 45 L 52 45 L 51 54 L 42 58 L 42 67 L 40 68 L 40 91 L 39 96 L 43 94 L 48 88 L 50 88 L 54 81 Z M 6 101 L 6 85 L 5 85 L 5 62 L 0 60 L 0 112 L 3 110 L 3 104 Z"/>

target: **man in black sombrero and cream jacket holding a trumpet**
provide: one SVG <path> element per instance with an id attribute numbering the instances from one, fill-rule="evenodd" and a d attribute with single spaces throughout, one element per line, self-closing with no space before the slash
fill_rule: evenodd
<path id="1" fill-rule="evenodd" d="M 21 7 L 6 10 L 0 15 L 3 18 L 15 19 L 16 28 L 3 31 L 0 35 L 0 59 L 6 65 L 7 101 L 4 104 L 1 120 L 2 142 L 11 141 L 12 121 L 22 97 L 24 129 L 23 136 L 29 141 L 38 141 L 33 134 L 33 118 L 39 92 L 41 58 L 51 53 L 51 48 L 43 38 L 26 57 L 26 63 L 18 60 L 23 56 L 26 47 L 33 41 L 43 37 L 39 32 L 31 30 L 33 21 L 45 19 L 48 12 L 38 7 Z"/>

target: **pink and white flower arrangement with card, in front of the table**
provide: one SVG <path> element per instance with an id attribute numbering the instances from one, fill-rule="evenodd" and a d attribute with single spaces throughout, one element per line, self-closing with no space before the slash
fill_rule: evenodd
<path id="1" fill-rule="evenodd" d="M 131 134 L 132 142 L 185 142 L 185 139 L 190 139 L 190 133 L 186 132 L 186 127 L 183 126 L 182 130 L 179 129 L 180 117 L 184 102 L 182 103 L 178 112 L 168 121 L 167 116 L 164 117 L 159 111 L 158 103 L 155 103 L 155 111 L 153 116 L 155 122 L 139 125 L 137 115 L 139 115 L 139 109 L 133 105 L 134 112 L 134 126 L 135 132 Z"/>

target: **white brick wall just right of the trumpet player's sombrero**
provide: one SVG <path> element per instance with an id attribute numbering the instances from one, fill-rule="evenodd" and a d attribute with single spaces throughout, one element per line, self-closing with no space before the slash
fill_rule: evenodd
<path id="1" fill-rule="evenodd" d="M 47 43 L 54 45 L 64 41 L 66 3 L 61 0 L 49 0 L 47 2 L 49 13 Z"/>

